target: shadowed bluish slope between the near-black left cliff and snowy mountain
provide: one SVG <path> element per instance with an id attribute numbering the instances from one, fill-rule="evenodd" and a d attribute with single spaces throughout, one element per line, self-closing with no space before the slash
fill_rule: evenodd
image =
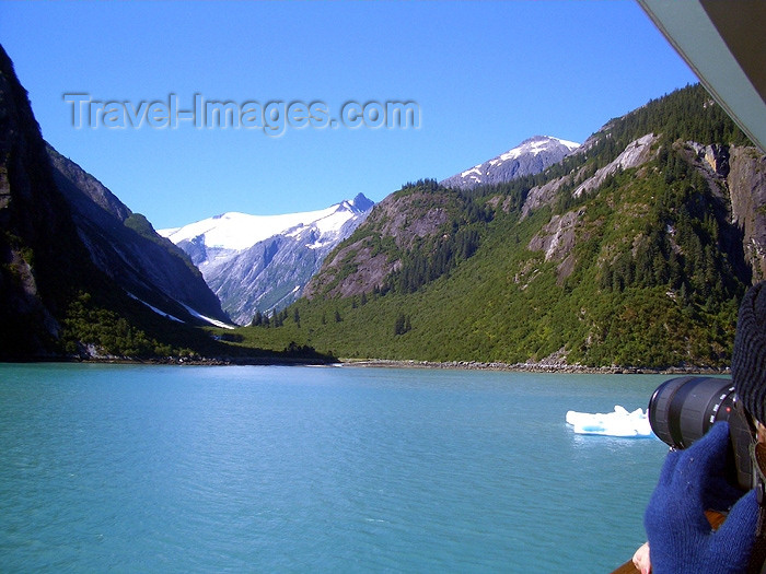
<path id="1" fill-rule="evenodd" d="M 182 305 L 228 321 L 216 295 L 186 254 L 132 213 L 101 181 L 48 147 L 54 177 L 72 209 L 80 238 L 93 262 L 123 289 L 176 317 Z"/>

